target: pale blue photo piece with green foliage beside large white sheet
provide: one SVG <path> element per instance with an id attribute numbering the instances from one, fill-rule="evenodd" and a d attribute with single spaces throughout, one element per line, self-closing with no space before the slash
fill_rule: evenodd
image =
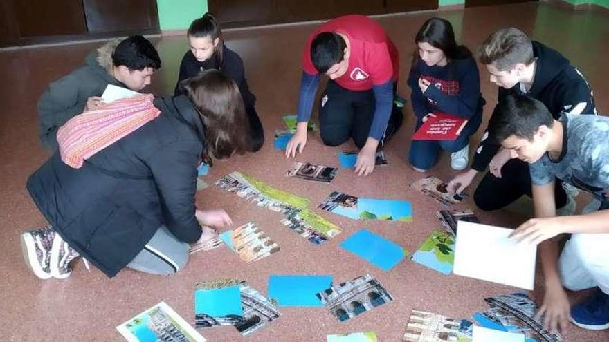
<path id="1" fill-rule="evenodd" d="M 455 262 L 455 237 L 448 231 L 433 231 L 412 254 L 412 261 L 442 274 L 451 274 Z"/>

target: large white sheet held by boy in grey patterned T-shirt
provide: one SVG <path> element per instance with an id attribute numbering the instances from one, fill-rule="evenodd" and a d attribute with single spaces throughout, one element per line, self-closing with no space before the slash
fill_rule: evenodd
<path id="1" fill-rule="evenodd" d="M 509 240 L 511 231 L 459 221 L 453 273 L 532 290 L 537 247 Z"/>

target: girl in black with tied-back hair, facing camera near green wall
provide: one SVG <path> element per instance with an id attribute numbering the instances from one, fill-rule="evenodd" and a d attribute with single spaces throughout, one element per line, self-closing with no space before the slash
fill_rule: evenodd
<path id="1" fill-rule="evenodd" d="M 237 83 L 243 97 L 249 122 L 249 150 L 252 152 L 260 150 L 264 144 L 264 130 L 254 106 L 256 97 L 251 93 L 245 79 L 243 60 L 235 51 L 224 46 L 220 26 L 211 13 L 206 13 L 203 17 L 192 21 L 187 36 L 190 50 L 185 53 L 180 64 L 176 95 L 182 93 L 180 82 L 183 79 L 197 75 L 203 70 L 221 70 Z"/>

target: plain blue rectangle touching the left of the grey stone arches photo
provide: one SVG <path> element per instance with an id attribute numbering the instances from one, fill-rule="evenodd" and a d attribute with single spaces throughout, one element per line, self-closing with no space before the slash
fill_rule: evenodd
<path id="1" fill-rule="evenodd" d="M 329 289 L 332 276 L 269 276 L 266 292 L 278 306 L 323 306 L 316 294 Z"/>

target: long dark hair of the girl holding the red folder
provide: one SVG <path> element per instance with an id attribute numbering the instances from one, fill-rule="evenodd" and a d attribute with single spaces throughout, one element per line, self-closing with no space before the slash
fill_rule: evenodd
<path id="1" fill-rule="evenodd" d="M 415 37 L 415 44 L 418 43 L 428 43 L 434 48 L 439 48 L 451 60 L 466 59 L 471 56 L 467 46 L 457 45 L 451 22 L 442 18 L 434 17 L 425 21 Z M 419 54 L 415 53 L 415 56 Z"/>

